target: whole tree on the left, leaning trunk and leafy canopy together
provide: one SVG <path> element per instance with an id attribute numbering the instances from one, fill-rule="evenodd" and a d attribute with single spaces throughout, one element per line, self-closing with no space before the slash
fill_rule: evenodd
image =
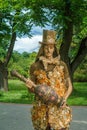
<path id="1" fill-rule="evenodd" d="M 24 0 L 0 0 L 0 89 L 8 90 L 8 63 L 17 37 L 31 37 L 33 24 L 43 26 L 31 14 L 31 3 L 26 8 Z"/>

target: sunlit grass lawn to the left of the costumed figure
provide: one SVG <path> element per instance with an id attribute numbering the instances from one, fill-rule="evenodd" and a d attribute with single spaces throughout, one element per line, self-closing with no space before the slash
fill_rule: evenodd
<path id="1" fill-rule="evenodd" d="M 0 92 L 0 102 L 31 104 L 34 101 L 34 94 L 28 91 L 22 81 L 9 80 L 8 84 L 9 91 Z"/>

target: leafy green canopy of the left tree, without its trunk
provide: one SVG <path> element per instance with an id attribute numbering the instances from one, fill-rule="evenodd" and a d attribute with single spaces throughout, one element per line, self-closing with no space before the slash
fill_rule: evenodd
<path id="1" fill-rule="evenodd" d="M 32 36 L 34 19 L 31 5 L 26 8 L 23 0 L 0 0 L 0 60 L 6 57 L 13 32 L 16 37 Z"/>

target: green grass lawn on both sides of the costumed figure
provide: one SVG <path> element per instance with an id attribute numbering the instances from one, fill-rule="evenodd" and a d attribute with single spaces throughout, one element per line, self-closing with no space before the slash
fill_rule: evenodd
<path id="1" fill-rule="evenodd" d="M 9 91 L 0 91 L 0 102 L 31 104 L 34 94 L 28 92 L 25 84 L 19 80 L 9 80 Z M 69 105 L 87 105 L 87 82 L 74 83 L 73 93 L 68 99 Z"/>

